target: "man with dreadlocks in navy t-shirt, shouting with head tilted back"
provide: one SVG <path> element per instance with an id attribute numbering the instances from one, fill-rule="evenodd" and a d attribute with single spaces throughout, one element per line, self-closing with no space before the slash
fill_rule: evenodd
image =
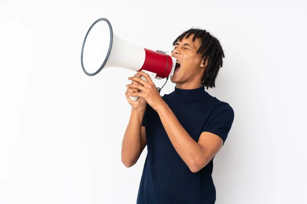
<path id="1" fill-rule="evenodd" d="M 133 166 L 147 145 L 137 203 L 212 204 L 213 158 L 224 145 L 234 112 L 205 87 L 215 87 L 225 56 L 220 42 L 205 30 L 188 30 L 173 45 L 171 56 L 178 60 L 170 78 L 176 83 L 173 92 L 161 97 L 144 72 L 128 78 L 132 82 L 125 94 L 132 109 L 122 162 Z"/>

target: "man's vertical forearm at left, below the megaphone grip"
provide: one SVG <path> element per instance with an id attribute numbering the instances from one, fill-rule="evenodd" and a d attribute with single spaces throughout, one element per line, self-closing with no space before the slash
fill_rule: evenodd
<path id="1" fill-rule="evenodd" d="M 141 127 L 143 112 L 131 110 L 130 119 L 122 141 L 121 159 L 125 166 L 134 165 L 142 151 Z"/>

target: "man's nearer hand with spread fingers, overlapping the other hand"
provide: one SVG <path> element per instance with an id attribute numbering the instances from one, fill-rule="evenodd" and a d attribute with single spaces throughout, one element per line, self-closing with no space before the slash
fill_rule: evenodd
<path id="1" fill-rule="evenodd" d="M 143 97 L 147 103 L 157 111 L 164 104 L 164 100 L 162 99 L 156 85 L 152 82 L 149 75 L 143 71 L 138 71 L 138 74 L 143 75 L 147 82 L 139 77 L 129 77 L 129 80 L 137 83 L 127 84 L 126 86 L 128 88 L 135 88 L 142 91 L 130 93 L 129 96 Z"/>

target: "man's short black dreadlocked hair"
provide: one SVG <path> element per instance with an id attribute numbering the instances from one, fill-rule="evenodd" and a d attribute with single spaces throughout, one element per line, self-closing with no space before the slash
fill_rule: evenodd
<path id="1" fill-rule="evenodd" d="M 190 29 L 185 31 L 180 36 L 178 36 L 176 40 L 174 40 L 173 45 L 175 45 L 177 41 L 181 41 L 185 36 L 188 38 L 192 34 L 194 34 L 193 41 L 196 38 L 201 40 L 201 46 L 197 53 L 202 54 L 202 58 L 205 57 L 204 64 L 208 60 L 208 64 L 202 77 L 202 85 L 207 87 L 207 89 L 209 87 L 215 87 L 215 79 L 218 70 L 220 70 L 220 67 L 223 66 L 223 58 L 225 58 L 222 46 L 215 37 L 210 35 L 209 32 L 201 29 Z"/>

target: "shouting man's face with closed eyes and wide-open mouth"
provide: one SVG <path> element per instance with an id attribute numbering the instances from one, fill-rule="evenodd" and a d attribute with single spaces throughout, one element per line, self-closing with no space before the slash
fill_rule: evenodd
<path id="1" fill-rule="evenodd" d="M 177 64 L 174 74 L 170 77 L 170 81 L 177 85 L 191 84 L 198 86 L 202 83 L 202 76 L 205 70 L 201 54 L 197 54 L 200 48 L 201 41 L 196 38 L 192 41 L 193 35 L 189 38 L 183 38 L 178 41 L 171 53 L 171 56 L 177 59 Z"/>

